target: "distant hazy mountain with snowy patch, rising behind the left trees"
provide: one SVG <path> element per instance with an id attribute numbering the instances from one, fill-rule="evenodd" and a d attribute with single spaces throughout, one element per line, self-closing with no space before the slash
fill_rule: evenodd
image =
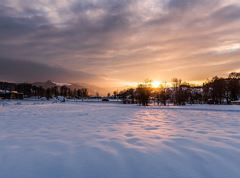
<path id="1" fill-rule="evenodd" d="M 52 82 L 50 80 L 46 81 L 46 82 L 35 82 L 33 83 L 34 86 L 38 86 L 38 87 L 43 87 L 44 89 L 47 88 L 52 88 L 55 86 L 61 87 L 61 86 L 67 86 L 69 87 L 71 90 L 74 89 L 81 89 L 81 88 L 87 88 L 88 92 L 90 95 L 96 95 L 96 93 L 99 93 L 100 95 L 107 95 L 107 90 L 97 87 L 95 85 L 89 85 L 86 83 L 82 83 L 82 84 L 78 84 L 78 83 L 58 83 L 58 82 Z"/>

